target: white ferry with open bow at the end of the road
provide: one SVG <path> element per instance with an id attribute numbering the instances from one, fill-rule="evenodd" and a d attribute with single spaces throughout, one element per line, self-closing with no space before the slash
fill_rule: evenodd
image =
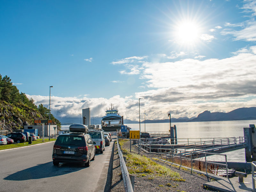
<path id="1" fill-rule="evenodd" d="M 101 119 L 101 128 L 106 132 L 116 131 L 121 129 L 121 125 L 124 124 L 124 116 L 120 116 L 117 108 L 111 103 L 111 108 L 107 108 L 106 116 Z"/>

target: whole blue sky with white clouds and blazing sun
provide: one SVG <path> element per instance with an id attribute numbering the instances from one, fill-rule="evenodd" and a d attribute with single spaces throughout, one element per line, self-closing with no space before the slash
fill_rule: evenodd
<path id="1" fill-rule="evenodd" d="M 56 116 L 255 107 L 256 3 L 1 1 L 0 74 Z"/>

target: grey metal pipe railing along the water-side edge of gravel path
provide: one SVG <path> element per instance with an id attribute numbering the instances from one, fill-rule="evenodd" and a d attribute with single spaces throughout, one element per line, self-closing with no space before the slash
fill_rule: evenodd
<path id="1" fill-rule="evenodd" d="M 138 140 L 137 140 L 137 144 L 138 144 Z M 141 141 L 140 145 L 143 146 L 143 148 L 148 148 L 149 149 L 149 153 L 151 153 L 151 144 Z M 148 147 L 149 146 L 149 147 Z M 162 150 L 165 151 L 165 153 L 162 153 Z M 167 152 L 168 151 L 168 152 Z M 179 152 L 179 153 L 178 153 Z M 186 153 L 190 154 L 190 158 L 186 157 Z M 200 160 L 200 159 L 193 159 L 192 158 L 192 153 L 195 154 L 204 154 L 204 161 Z M 207 153 L 207 152 L 196 152 L 196 151 L 184 151 L 184 150 L 178 150 L 178 149 L 170 149 L 170 148 L 157 148 L 157 156 L 158 158 L 160 157 L 160 159 L 162 159 L 162 155 L 165 155 L 165 159 L 167 161 L 167 158 L 169 157 L 169 161 L 171 162 L 171 157 L 172 157 L 172 163 L 174 163 L 173 158 L 174 157 L 178 157 L 180 158 L 180 165 L 182 165 L 182 159 L 184 160 L 190 160 L 191 162 L 191 171 L 193 169 L 193 161 L 199 161 L 199 162 L 203 162 L 205 163 L 205 172 L 207 174 L 207 163 L 212 164 L 212 162 L 207 161 L 206 159 L 206 155 L 219 155 L 219 156 L 225 156 L 225 164 L 221 164 L 221 163 L 214 163 L 217 165 L 223 165 L 226 166 L 226 174 L 227 174 L 227 178 L 228 178 L 228 162 L 227 162 L 227 155 L 226 154 L 218 154 L 218 153 Z M 255 165 L 256 166 L 256 165 Z"/>

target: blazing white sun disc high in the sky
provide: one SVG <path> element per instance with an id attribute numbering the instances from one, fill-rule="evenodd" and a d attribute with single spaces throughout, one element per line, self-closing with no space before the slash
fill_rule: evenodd
<path id="1" fill-rule="evenodd" d="M 175 26 L 175 39 L 183 44 L 193 44 L 199 39 L 199 27 L 195 22 L 183 21 Z"/>

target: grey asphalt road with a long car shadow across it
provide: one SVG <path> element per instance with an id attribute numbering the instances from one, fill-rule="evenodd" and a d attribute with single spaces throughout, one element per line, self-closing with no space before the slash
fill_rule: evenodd
<path id="1" fill-rule="evenodd" d="M 109 181 L 111 177 L 108 167 L 113 141 L 103 154 L 96 152 L 90 167 L 81 164 L 53 166 L 53 144 L 0 152 L 0 192 L 104 191 L 107 178 Z"/>

